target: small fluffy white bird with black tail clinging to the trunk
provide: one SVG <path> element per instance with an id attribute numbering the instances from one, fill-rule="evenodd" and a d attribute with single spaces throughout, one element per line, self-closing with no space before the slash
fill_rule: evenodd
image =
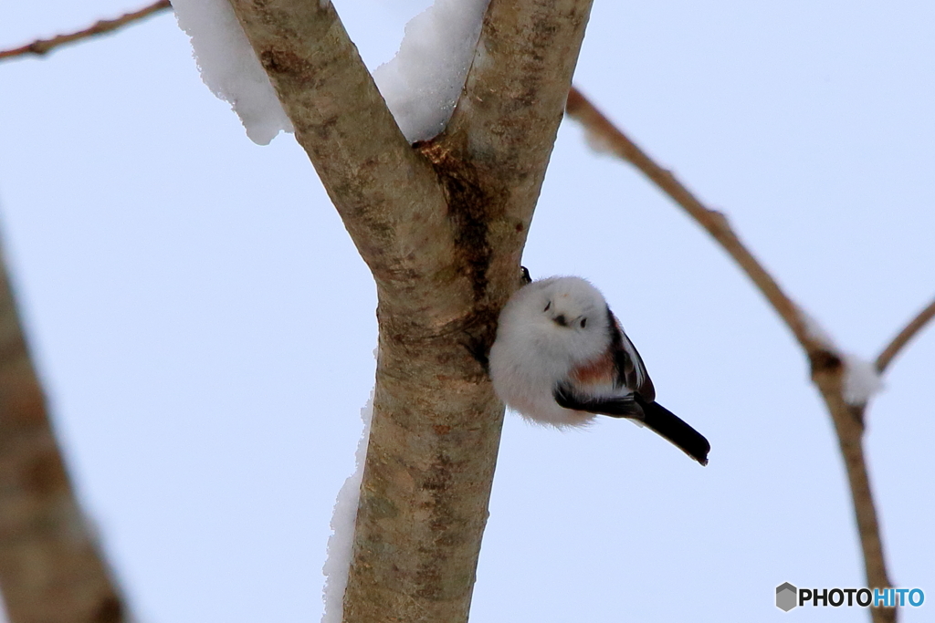
<path id="1" fill-rule="evenodd" d="M 500 400 L 525 418 L 560 428 L 596 414 L 628 418 L 708 464 L 711 444 L 656 404 L 640 353 L 581 277 L 539 279 L 513 294 L 500 312 L 490 376 Z"/>

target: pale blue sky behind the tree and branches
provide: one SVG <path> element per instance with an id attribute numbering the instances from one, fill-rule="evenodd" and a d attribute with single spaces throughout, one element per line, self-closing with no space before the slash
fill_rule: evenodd
<path id="1" fill-rule="evenodd" d="M 424 3 L 336 6 L 372 68 Z M 3 2 L 0 47 L 136 7 Z M 576 82 L 843 349 L 875 356 L 935 295 L 931 3 L 597 0 Z M 140 621 L 317 621 L 375 292 L 293 138 L 253 145 L 167 14 L 3 63 L 0 227 L 69 465 Z M 707 234 L 567 123 L 525 265 L 604 291 L 711 464 L 626 422 L 563 433 L 508 414 L 472 621 L 866 620 L 772 604 L 785 581 L 863 586 L 856 531 L 803 356 Z M 933 370 L 929 329 L 867 440 L 891 576 L 929 601 Z"/>

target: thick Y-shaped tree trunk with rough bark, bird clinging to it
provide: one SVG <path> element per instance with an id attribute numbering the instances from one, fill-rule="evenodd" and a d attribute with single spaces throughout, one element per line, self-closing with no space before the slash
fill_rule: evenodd
<path id="1" fill-rule="evenodd" d="M 589 0 L 493 0 L 448 133 L 410 146 L 334 7 L 230 0 L 377 282 L 374 418 L 344 620 L 465 621 L 503 405 L 485 371 Z"/>

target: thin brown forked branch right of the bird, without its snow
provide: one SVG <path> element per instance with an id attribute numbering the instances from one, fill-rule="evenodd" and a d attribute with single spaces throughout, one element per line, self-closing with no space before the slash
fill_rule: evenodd
<path id="1" fill-rule="evenodd" d="M 795 335 L 809 358 L 813 382 L 825 400 L 838 434 L 854 503 L 868 586 L 871 588 L 890 587 L 880 538 L 880 526 L 870 491 L 867 464 L 864 460 L 864 412 L 867 404 L 866 402 L 849 404 L 845 399 L 844 377 L 847 369 L 841 353 L 827 343 L 822 335 L 813 332 L 811 321 L 802 314 L 798 304 L 795 304 L 784 293 L 767 270 L 756 261 L 754 255 L 743 246 L 722 213 L 698 201 L 698 198 L 688 191 L 669 170 L 655 163 L 575 88 L 568 93 L 567 110 L 568 115 L 582 123 L 588 141 L 595 149 L 610 151 L 633 164 L 661 191 L 668 194 L 675 203 L 681 205 L 690 217 L 698 221 L 698 224 L 712 235 L 737 262 L 741 270 L 750 277 L 756 288 L 766 296 L 773 309 Z M 876 360 L 876 370 L 883 373 L 899 349 L 905 346 L 933 316 L 935 316 L 935 301 L 916 316 L 885 348 Z M 895 608 L 873 609 L 871 616 L 874 623 L 893 623 L 897 618 L 897 610 Z"/>

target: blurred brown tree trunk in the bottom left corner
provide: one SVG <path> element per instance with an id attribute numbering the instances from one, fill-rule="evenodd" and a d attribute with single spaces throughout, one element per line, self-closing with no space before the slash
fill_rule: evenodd
<path id="1" fill-rule="evenodd" d="M 2 265 L 0 587 L 11 623 L 124 620 L 65 474 Z"/>

